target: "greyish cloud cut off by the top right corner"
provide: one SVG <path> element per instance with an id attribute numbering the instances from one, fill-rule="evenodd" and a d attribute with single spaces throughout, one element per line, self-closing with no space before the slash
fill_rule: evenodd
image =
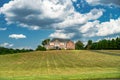
<path id="1" fill-rule="evenodd" d="M 86 0 L 86 1 L 89 4 L 92 4 L 92 5 L 98 5 L 98 4 L 110 5 L 110 4 L 114 4 L 114 5 L 120 6 L 120 0 Z"/>

